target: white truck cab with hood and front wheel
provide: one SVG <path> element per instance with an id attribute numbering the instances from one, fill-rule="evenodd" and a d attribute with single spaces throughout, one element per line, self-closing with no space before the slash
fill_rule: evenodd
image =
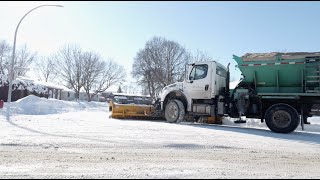
<path id="1" fill-rule="evenodd" d="M 185 114 L 215 115 L 218 99 L 225 93 L 226 80 L 226 67 L 216 61 L 187 64 L 184 81 L 164 87 L 160 95 L 161 110 L 167 121 L 182 120 L 179 116 Z"/>

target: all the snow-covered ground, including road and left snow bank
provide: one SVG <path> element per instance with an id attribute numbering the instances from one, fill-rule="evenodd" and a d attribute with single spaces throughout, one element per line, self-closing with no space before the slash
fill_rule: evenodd
<path id="1" fill-rule="evenodd" d="M 6 106 L 6 104 L 5 104 Z M 28 96 L 0 109 L 0 178 L 320 178 L 320 119 L 290 134 L 109 117 L 108 104 Z"/>

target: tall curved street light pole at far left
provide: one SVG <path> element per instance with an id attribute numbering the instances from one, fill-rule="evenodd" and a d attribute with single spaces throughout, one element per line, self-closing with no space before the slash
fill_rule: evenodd
<path id="1" fill-rule="evenodd" d="M 27 12 L 19 21 L 17 27 L 16 27 L 16 31 L 14 33 L 14 41 L 13 41 L 13 50 L 12 50 L 12 59 L 11 59 L 11 65 L 10 65 L 10 70 L 9 70 L 9 90 L 8 90 L 8 100 L 7 100 L 7 120 L 9 120 L 9 116 L 10 116 L 10 103 L 11 103 L 11 94 L 12 94 L 12 81 L 13 81 L 13 66 L 14 66 L 14 58 L 15 58 L 15 51 L 16 51 L 16 39 L 17 39 L 17 32 L 18 32 L 18 28 L 22 22 L 22 20 L 29 14 L 31 13 L 33 10 L 44 7 L 44 6 L 55 6 L 55 7 L 63 7 L 61 5 L 41 5 L 41 6 L 37 6 L 33 9 L 31 9 L 29 12 Z"/>

